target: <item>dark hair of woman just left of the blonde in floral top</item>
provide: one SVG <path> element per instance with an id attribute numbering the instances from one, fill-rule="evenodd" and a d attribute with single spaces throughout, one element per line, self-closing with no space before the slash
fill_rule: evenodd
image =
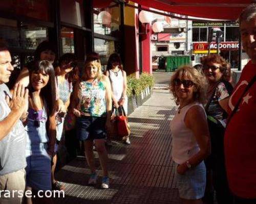
<path id="1" fill-rule="evenodd" d="M 65 78 L 68 79 L 69 83 L 77 81 L 79 79 L 79 69 L 77 67 L 77 59 L 75 55 L 72 53 L 66 53 L 62 55 L 59 58 L 59 69 L 61 69 L 62 62 L 65 62 L 67 64 L 71 62 L 71 66 L 73 67 L 72 71 L 65 75 Z M 56 74 L 59 74 L 59 71 L 60 70 L 56 70 Z"/>

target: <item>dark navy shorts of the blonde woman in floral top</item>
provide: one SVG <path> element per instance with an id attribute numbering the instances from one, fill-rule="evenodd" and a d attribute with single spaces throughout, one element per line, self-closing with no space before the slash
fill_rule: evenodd
<path id="1" fill-rule="evenodd" d="M 76 134 L 79 140 L 105 139 L 106 117 L 82 116 L 76 121 Z"/>

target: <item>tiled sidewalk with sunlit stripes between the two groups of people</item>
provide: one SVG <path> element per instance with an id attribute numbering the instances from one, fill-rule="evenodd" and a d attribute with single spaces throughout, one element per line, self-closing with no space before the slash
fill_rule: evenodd
<path id="1" fill-rule="evenodd" d="M 56 179 L 66 184 L 65 198 L 55 203 L 180 203 L 173 162 L 169 120 L 176 105 L 168 90 L 154 90 L 150 99 L 129 116 L 131 145 L 115 142 L 108 148 L 110 189 L 88 186 L 85 158 L 64 166 Z M 95 151 L 97 156 L 97 152 Z M 99 169 L 99 161 L 96 160 Z"/>

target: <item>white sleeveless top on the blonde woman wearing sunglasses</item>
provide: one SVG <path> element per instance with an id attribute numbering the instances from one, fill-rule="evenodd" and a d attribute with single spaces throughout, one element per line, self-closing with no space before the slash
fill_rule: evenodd
<path id="1" fill-rule="evenodd" d="M 193 106 L 200 106 L 204 110 L 202 104 L 195 102 L 183 107 L 180 113 L 177 111 L 173 120 L 170 121 L 170 131 L 173 136 L 172 159 L 178 164 L 183 164 L 200 150 L 193 132 L 184 122 L 187 111 Z"/>

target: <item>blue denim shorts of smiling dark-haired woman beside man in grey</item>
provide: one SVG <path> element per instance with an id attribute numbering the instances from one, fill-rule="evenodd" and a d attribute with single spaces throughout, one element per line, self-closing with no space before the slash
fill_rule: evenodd
<path id="1" fill-rule="evenodd" d="M 26 185 L 34 190 L 51 190 L 51 157 L 48 155 L 46 143 L 31 145 L 26 149 Z"/>

